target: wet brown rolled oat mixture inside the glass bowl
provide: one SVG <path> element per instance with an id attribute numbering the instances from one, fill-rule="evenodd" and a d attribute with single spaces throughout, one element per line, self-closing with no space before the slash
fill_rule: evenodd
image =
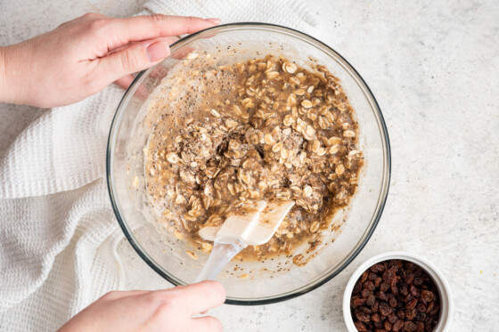
<path id="1" fill-rule="evenodd" d="M 249 200 L 291 199 L 274 237 L 241 257 L 316 247 L 355 194 L 364 162 L 339 79 L 274 55 L 218 65 L 209 53 L 191 53 L 184 62 L 189 70 L 171 74 L 150 106 L 157 121 L 145 172 L 161 222 L 209 252 L 203 225 L 223 223 Z"/>

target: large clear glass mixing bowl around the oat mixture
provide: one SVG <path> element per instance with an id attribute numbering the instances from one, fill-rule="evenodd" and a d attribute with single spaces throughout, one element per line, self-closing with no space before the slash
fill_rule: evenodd
<path id="1" fill-rule="evenodd" d="M 371 90 L 348 61 L 315 38 L 290 28 L 261 23 L 209 28 L 172 45 L 168 59 L 135 78 L 119 103 L 107 150 L 110 200 L 119 225 L 138 255 L 175 285 L 191 283 L 207 259 L 202 252 L 195 253 L 197 260 L 192 259 L 186 254 L 192 248 L 156 222 L 144 181 L 143 149 L 152 129 L 145 101 L 168 70 L 192 50 L 209 51 L 217 55 L 220 63 L 267 53 L 283 54 L 306 68 L 314 60 L 341 80 L 356 110 L 365 166 L 356 196 L 335 218 L 340 232 L 327 235 L 319 254 L 303 267 L 294 266 L 286 257 L 266 263 L 237 262 L 241 270 L 234 271 L 235 265 L 230 263 L 218 278 L 225 286 L 228 304 L 274 303 L 321 286 L 358 255 L 380 220 L 389 190 L 389 137 Z M 243 274 L 249 277 L 242 278 Z"/>

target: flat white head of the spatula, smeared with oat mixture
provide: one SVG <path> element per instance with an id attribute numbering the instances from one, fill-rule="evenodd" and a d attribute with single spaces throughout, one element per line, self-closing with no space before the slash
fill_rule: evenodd
<path id="1" fill-rule="evenodd" d="M 247 246 L 259 246 L 268 242 L 277 231 L 282 220 L 295 205 L 294 201 L 282 200 L 272 203 L 260 200 L 252 203 L 249 213 L 230 215 L 218 227 L 203 227 L 199 234 L 202 239 L 239 239 Z M 245 206 L 246 207 L 246 206 Z M 247 209 L 245 209 L 248 211 Z"/>

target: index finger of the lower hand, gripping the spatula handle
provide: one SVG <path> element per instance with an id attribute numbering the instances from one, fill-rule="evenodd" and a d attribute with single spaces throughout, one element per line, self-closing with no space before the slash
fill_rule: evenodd
<path id="1" fill-rule="evenodd" d="M 177 292 L 178 304 L 183 305 L 192 314 L 215 308 L 225 302 L 225 289 L 217 281 L 202 281 L 184 287 L 175 287 L 170 292 Z"/>

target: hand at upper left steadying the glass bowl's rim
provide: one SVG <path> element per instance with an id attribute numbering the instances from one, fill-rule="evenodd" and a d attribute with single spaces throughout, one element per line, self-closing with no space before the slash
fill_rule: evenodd
<path id="1" fill-rule="evenodd" d="M 55 107 L 81 101 L 169 55 L 176 36 L 218 19 L 149 15 L 112 19 L 87 13 L 53 31 L 0 47 L 0 101 Z"/>

